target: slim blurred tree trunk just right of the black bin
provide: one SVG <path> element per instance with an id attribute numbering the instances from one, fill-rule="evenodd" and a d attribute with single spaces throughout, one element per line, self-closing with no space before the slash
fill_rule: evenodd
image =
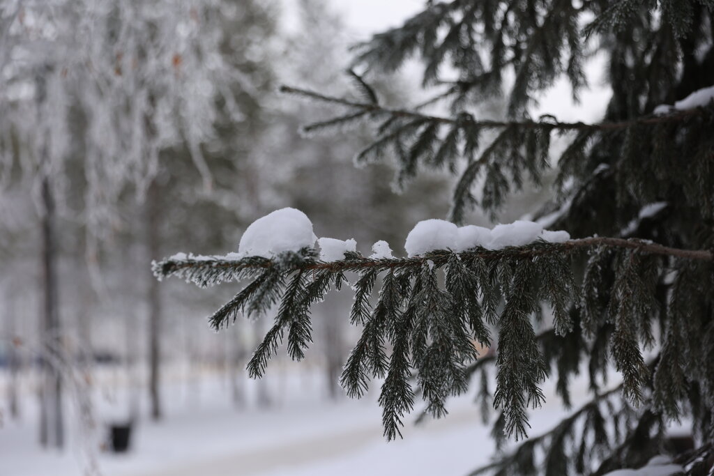
<path id="1" fill-rule="evenodd" d="M 161 204 L 160 193 L 156 181 L 151 183 L 146 193 L 146 248 L 149 260 L 160 258 L 159 217 Z M 147 286 L 146 302 L 149 305 L 149 402 L 151 418 L 160 420 L 163 412 L 161 409 L 161 288 L 159 281 L 147 273 L 149 285 Z"/>

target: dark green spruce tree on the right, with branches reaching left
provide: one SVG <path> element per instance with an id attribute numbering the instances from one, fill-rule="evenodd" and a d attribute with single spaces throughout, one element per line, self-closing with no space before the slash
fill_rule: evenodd
<path id="1" fill-rule="evenodd" d="M 211 316 L 216 329 L 276 306 L 248 363 L 253 377 L 283 340 L 292 358 L 303 358 L 311 305 L 349 282 L 349 318 L 362 334 L 343 369 L 346 392 L 361 397 L 371 378 L 382 380 L 391 439 L 418 397 L 441 417 L 448 397 L 475 388 L 483 407 L 496 409 L 499 447 L 508 438 L 518 443 L 473 474 L 602 475 L 661 453 L 687 474 L 711 474 L 713 39 L 712 0 L 428 1 L 402 26 L 356 46 L 354 69 L 364 74 L 350 73 L 355 97 L 282 88 L 338 109 L 303 131 L 373 125 L 375 140 L 356 162 L 393 161 L 398 188 L 422 170 L 451 170 L 454 223 L 474 207 L 497 217 L 511 193 L 545 183 L 553 201 L 534 216 L 573 239 L 408 258 L 347 251 L 324 261 L 311 247 L 268 258 L 188 255 L 154 263 L 154 272 L 202 287 L 246 281 Z M 539 93 L 563 76 L 577 98 L 595 53 L 608 59 L 613 90 L 602 121 L 531 117 Z M 370 78 L 411 58 L 423 63 L 433 100 L 385 106 Z M 443 77 L 446 66 L 455 79 Z M 508 103 L 506 118 L 475 112 L 493 96 Z M 568 143 L 558 155 L 555 138 Z M 478 355 L 474 342 L 493 351 Z M 607 379 L 609 368 L 620 383 Z M 543 402 L 545 380 L 570 407 L 580 370 L 590 400 L 528 435 L 528 409 Z M 672 422 L 690 427 L 691 447 L 667 437 Z"/>

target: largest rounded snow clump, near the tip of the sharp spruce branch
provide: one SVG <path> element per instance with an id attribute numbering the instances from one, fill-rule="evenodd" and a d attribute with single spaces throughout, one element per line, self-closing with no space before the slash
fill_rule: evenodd
<path id="1" fill-rule="evenodd" d="M 271 258 L 284 251 L 311 248 L 315 240 L 312 222 L 305 213 L 295 208 L 281 208 L 248 226 L 238 245 L 238 253 Z"/>

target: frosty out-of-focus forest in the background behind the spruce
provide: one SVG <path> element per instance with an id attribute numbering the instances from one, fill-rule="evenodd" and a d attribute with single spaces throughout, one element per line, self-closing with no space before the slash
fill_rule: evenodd
<path id="1" fill-rule="evenodd" d="M 291 5 L 289 25 L 276 1 L 157 1 L 151 11 L 99 1 L 101 35 L 84 21 L 88 2 L 55 3 L 1 4 L 2 418 L 21 420 L 39 401 L 39 442 L 61 446 L 64 433 L 108 418 L 92 410 L 98 402 L 119 420 L 160 420 L 164 383 L 198 394 L 207 374 L 225 380 L 236 407 L 279 405 L 274 386 L 248 392 L 243 370 L 269 319 L 215 334 L 205 317 L 236 289 L 159 285 L 151 260 L 237 250 L 253 220 L 284 206 L 305 212 L 318 236 L 355 238 L 362 253 L 386 239 L 403 254 L 416 221 L 446 216 L 450 176 L 423 176 L 397 194 L 390 164 L 353 166 L 368 128 L 298 133 L 322 111 L 280 96 L 281 83 L 353 93 L 346 29 L 322 0 Z M 53 32 L 63 23 L 75 31 Z M 88 31 L 101 38 L 87 40 Z M 371 81 L 386 103 L 404 103 L 411 87 L 400 76 Z M 503 220 L 537 199 L 521 194 Z M 325 398 L 343 395 L 338 375 L 353 340 L 341 299 L 349 293 L 315 309 L 306 363 L 326 375 Z M 67 406 L 85 420 L 67 422 Z"/>

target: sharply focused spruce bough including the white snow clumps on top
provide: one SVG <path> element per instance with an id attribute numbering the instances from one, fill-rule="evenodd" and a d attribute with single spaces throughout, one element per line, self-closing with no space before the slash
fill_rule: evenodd
<path id="1" fill-rule="evenodd" d="M 501 410 L 498 425 L 518 440 L 526 437 L 528 407 L 538 407 L 544 400 L 540 384 L 548 375 L 548 364 L 555 364 L 561 380 L 578 372 L 585 350 L 582 339 L 560 355 L 550 355 L 560 343 L 543 344 L 545 339 L 560 340 L 559 336 L 573 333 L 577 315 L 570 308 L 581 302 L 581 294 L 610 294 L 608 337 L 593 353 L 590 365 L 600 368 L 599 353 L 607 351 L 609 341 L 624 377 L 620 387 L 628 397 L 618 412 L 632 420 L 635 412 L 630 403 L 643 400 L 650 375 L 640 345 L 653 345 L 650 305 L 656 305 L 658 273 L 668 261 L 703 262 L 710 268 L 713 260 L 708 250 L 621 238 L 569 238 L 566 232 L 546 231 L 528 221 L 489 230 L 428 220 L 417 223 L 406 238 L 407 258 L 365 258 L 354 251 L 353 240 L 331 238 L 318 240 L 323 245 L 318 255 L 311 221 L 300 211 L 284 208 L 249 226 L 238 253 L 223 257 L 179 253 L 154 263 L 154 273 L 159 278 L 175 275 L 201 287 L 248 281 L 209 319 L 216 330 L 239 315 L 258 316 L 277 307 L 273 327 L 248 363 L 252 377 L 263 375 L 283 342 L 288 355 L 301 360 L 311 343 L 311 305 L 347 283 L 346 273 L 355 275 L 350 318 L 353 325 L 361 326 L 362 335 L 349 355 L 341 383 L 349 396 L 361 397 L 371 378 L 384 379 L 379 403 L 386 437 L 401 435 L 403 417 L 414 406 L 413 383 L 426 401 L 426 412 L 441 417 L 446 415 L 449 396 L 468 390 L 474 373 L 485 373 L 486 365 L 495 364 L 496 390 L 493 395 L 486 390 L 482 397 L 493 398 L 493 406 Z M 598 288 L 602 281 L 593 274 L 603 273 L 601 268 L 588 269 L 588 280 L 576 282 L 571 256 L 588 252 L 591 263 L 598 263 L 604 253 L 614 257 L 617 293 Z M 324 260 L 328 257 L 337 259 Z M 540 312 L 540 303 L 553 310 L 553 328 L 536 335 L 531 316 Z M 597 299 L 585 303 L 583 308 L 600 315 Z M 608 325 L 593 325 L 592 332 L 601 333 L 603 327 Z M 491 345 L 496 329 L 495 361 L 488 356 L 478 360 L 475 343 Z M 569 362 L 573 355 L 575 360 Z M 416 381 L 411 380 L 412 373 Z M 596 381 L 592 375 L 595 386 Z M 567 399 L 567 381 L 559 390 Z M 598 395 L 598 401 L 614 393 Z M 588 405 L 560 431 L 573 431 L 570 426 L 578 415 L 590 415 L 598 402 Z M 673 416 L 681 415 L 678 411 Z M 528 447 L 538 440 L 528 440 Z"/>

